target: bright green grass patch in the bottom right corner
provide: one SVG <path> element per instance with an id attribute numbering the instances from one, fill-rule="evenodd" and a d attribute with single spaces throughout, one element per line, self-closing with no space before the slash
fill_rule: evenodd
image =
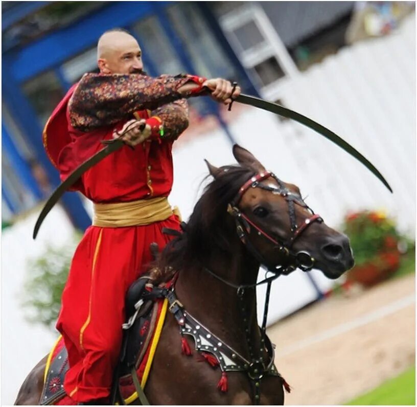
<path id="1" fill-rule="evenodd" d="M 385 381 L 346 405 L 415 405 L 415 368 Z"/>

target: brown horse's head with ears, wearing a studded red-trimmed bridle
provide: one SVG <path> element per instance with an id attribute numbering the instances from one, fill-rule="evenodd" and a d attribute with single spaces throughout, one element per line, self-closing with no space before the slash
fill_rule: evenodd
<path id="1" fill-rule="evenodd" d="M 262 265 L 281 274 L 314 267 L 332 279 L 353 267 L 349 238 L 314 214 L 296 185 L 281 181 L 238 145 L 233 154 L 249 171 L 227 211 L 240 240 Z M 231 172 L 230 166 L 207 166 L 217 183 Z"/>

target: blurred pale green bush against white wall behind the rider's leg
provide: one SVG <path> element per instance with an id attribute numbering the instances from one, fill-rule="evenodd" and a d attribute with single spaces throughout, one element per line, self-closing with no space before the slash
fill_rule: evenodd
<path id="1" fill-rule="evenodd" d="M 61 308 L 62 290 L 81 235 L 58 248 L 47 247 L 41 256 L 28 262 L 29 276 L 24 285 L 27 320 L 53 328 Z"/>

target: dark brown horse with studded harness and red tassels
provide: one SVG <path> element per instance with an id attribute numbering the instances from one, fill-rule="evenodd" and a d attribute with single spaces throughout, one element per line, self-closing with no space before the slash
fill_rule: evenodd
<path id="1" fill-rule="evenodd" d="M 257 319 L 260 266 L 270 286 L 296 268 L 314 267 L 335 279 L 354 265 L 348 237 L 314 214 L 296 185 L 238 145 L 233 154 L 238 165 L 218 168 L 206 161 L 214 180 L 153 268 L 175 274 L 170 310 L 174 306 L 180 318 L 167 313 L 160 333 L 144 389 L 150 404 L 283 404 L 289 389 L 274 366 L 266 313 L 262 327 Z M 194 341 L 189 356 L 181 352 L 189 346 L 186 336 Z M 211 365 L 221 367 L 220 381 L 219 370 L 197 363 L 204 348 Z M 46 359 L 26 378 L 15 404 L 39 403 Z"/>

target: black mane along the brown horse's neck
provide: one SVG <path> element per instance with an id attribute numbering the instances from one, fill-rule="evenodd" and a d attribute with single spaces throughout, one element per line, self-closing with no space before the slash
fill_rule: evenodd
<path id="1" fill-rule="evenodd" d="M 254 174 L 248 166 L 220 167 L 216 178 L 205 187 L 196 203 L 183 233 L 169 242 L 155 261 L 153 270 L 159 274 L 156 280 L 167 281 L 176 271 L 202 265 L 214 248 L 220 251 L 230 248 L 228 236 L 235 231 L 226 227 L 231 221 L 227 205 Z"/>

